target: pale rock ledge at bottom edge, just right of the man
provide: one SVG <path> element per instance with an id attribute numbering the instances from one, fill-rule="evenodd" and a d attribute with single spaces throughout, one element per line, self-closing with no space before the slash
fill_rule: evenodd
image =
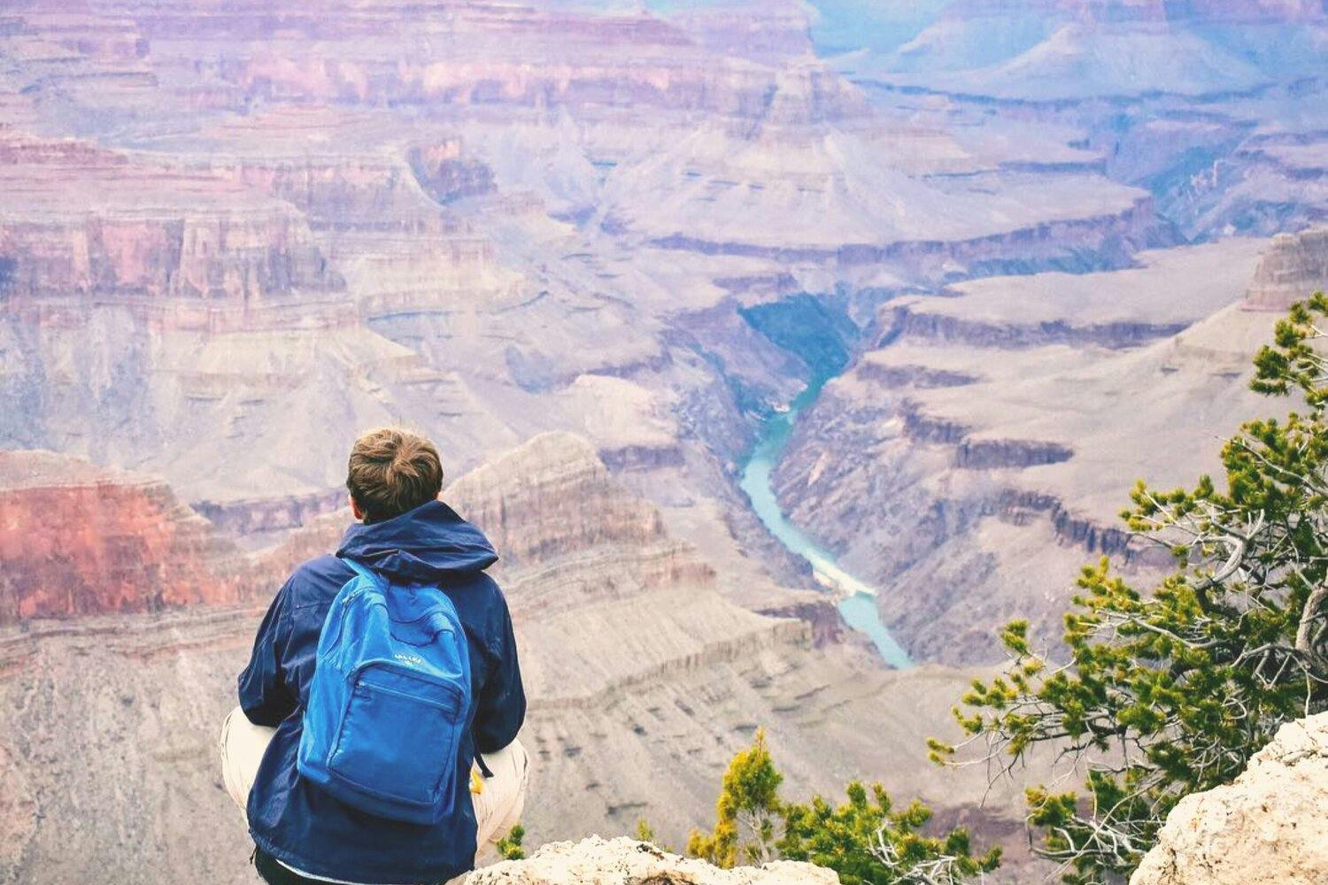
<path id="1" fill-rule="evenodd" d="M 598 836 L 554 843 L 518 861 L 475 870 L 467 885 L 835 885 L 839 877 L 811 864 L 776 861 L 720 869 L 648 843 Z"/>

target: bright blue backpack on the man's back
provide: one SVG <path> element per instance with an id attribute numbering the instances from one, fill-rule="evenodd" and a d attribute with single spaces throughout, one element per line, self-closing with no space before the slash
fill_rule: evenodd
<path id="1" fill-rule="evenodd" d="M 377 817 L 436 824 L 457 801 L 470 654 L 436 586 L 392 584 L 355 560 L 332 600 L 296 766 Z"/>

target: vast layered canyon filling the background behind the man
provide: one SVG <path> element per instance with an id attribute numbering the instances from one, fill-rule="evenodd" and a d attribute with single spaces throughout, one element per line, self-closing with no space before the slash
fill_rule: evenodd
<path id="1" fill-rule="evenodd" d="M 680 845 L 765 727 L 1041 876 L 926 738 L 1328 283 L 1328 19 L 1239 5 L 7 4 L 0 882 L 248 881 L 215 728 L 386 423 L 502 553 L 531 844 Z"/>

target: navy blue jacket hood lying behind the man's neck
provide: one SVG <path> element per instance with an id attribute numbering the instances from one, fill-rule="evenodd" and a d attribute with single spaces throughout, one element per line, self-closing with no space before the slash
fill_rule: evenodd
<path id="1" fill-rule="evenodd" d="M 483 532 L 438 500 L 381 523 L 356 523 L 345 529 L 336 555 L 390 579 L 420 584 L 482 572 L 498 561 Z"/>

